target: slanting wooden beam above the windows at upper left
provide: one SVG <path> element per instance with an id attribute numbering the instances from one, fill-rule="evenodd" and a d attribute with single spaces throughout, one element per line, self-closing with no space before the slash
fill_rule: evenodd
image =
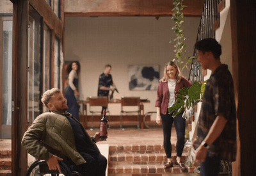
<path id="1" fill-rule="evenodd" d="M 54 33 L 56 33 L 56 36 L 58 36 L 58 38 L 62 38 L 63 22 L 52 11 L 51 6 L 49 6 L 49 4 L 47 4 L 46 1 L 38 1 L 38 0 L 29 0 L 29 4 L 33 6 L 36 12 L 38 12 L 44 18 L 45 24 L 47 24 L 47 26 L 50 29 L 54 30 Z"/>

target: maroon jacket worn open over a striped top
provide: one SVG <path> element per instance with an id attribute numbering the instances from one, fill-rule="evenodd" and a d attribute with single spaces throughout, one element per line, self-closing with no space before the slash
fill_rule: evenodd
<path id="1" fill-rule="evenodd" d="M 175 86 L 175 100 L 177 100 L 177 93 L 179 94 L 179 90 L 181 88 L 189 88 L 192 84 L 188 81 L 188 79 L 182 78 L 179 83 L 176 82 Z M 168 109 L 168 103 L 170 98 L 170 92 L 168 88 L 168 82 L 160 82 L 157 88 L 157 99 L 156 99 L 156 107 L 160 107 L 161 114 L 166 115 Z"/>

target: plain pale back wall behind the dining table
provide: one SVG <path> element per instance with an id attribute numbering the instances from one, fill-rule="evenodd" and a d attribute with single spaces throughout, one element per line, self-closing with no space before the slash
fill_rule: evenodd
<path id="1" fill-rule="evenodd" d="M 193 46 L 199 26 L 198 17 L 187 17 L 184 22 L 187 56 Z M 112 65 L 113 81 L 120 95 L 149 99 L 145 111 L 155 110 L 156 91 L 130 91 L 128 65 L 159 65 L 160 77 L 164 65 L 172 60 L 175 37 L 171 17 L 66 17 L 65 60 L 79 61 L 79 92 L 81 99 L 97 96 L 99 75 L 107 63 Z M 182 72 L 188 77 L 188 70 Z M 111 115 L 120 114 L 120 105 L 109 105 Z"/>

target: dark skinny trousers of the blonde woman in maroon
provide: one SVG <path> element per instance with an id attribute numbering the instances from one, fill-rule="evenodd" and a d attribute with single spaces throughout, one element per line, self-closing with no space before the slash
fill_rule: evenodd
<path id="1" fill-rule="evenodd" d="M 177 156 L 181 157 L 184 144 L 185 144 L 185 126 L 186 120 L 182 118 L 182 113 L 173 118 L 172 115 L 168 113 L 166 115 L 161 114 L 162 125 L 163 125 L 163 133 L 164 133 L 164 150 L 167 158 L 172 157 L 172 144 L 171 144 L 171 136 L 172 136 L 172 124 L 174 122 L 176 133 L 177 133 L 177 143 L 176 150 Z"/>

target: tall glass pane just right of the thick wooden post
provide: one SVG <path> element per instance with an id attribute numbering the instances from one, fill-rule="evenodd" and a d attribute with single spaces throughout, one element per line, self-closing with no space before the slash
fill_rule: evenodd
<path id="1" fill-rule="evenodd" d="M 28 123 L 40 114 L 41 102 L 41 20 L 32 8 L 29 10 L 28 29 Z"/>

